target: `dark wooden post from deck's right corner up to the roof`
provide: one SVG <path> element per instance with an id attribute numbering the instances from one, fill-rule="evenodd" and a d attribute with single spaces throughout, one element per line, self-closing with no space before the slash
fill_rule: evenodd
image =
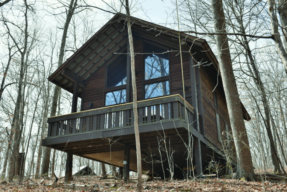
<path id="1" fill-rule="evenodd" d="M 197 90 L 196 90 L 196 75 L 195 75 L 195 61 L 189 56 L 189 64 L 190 64 L 190 83 L 191 83 L 191 100 L 192 107 L 194 108 L 193 114 L 193 128 L 199 131 L 199 112 L 198 112 L 198 104 L 197 104 Z"/>

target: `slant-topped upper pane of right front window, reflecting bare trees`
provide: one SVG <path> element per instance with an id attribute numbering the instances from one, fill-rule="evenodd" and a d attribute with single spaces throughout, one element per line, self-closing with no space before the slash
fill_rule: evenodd
<path id="1" fill-rule="evenodd" d="M 145 80 L 170 75 L 169 54 L 166 49 L 144 43 Z M 160 54 L 164 53 L 164 54 Z"/>

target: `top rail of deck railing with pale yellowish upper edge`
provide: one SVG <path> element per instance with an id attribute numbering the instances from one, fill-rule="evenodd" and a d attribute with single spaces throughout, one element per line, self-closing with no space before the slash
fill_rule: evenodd
<path id="1" fill-rule="evenodd" d="M 158 105 L 161 103 L 173 102 L 173 101 L 179 101 L 181 102 L 181 104 L 184 105 L 184 99 L 179 94 L 141 100 L 141 101 L 138 101 L 137 104 L 138 104 L 138 107 L 145 107 L 149 105 Z M 186 102 L 187 108 L 193 113 L 193 107 L 187 101 L 185 102 Z M 112 105 L 112 106 L 107 106 L 107 107 L 102 107 L 102 108 L 97 108 L 97 109 L 91 109 L 87 111 L 79 111 L 79 112 L 71 113 L 71 114 L 48 117 L 47 121 L 48 123 L 50 123 L 50 122 L 55 122 L 55 121 L 68 120 L 68 119 L 85 117 L 85 116 L 90 116 L 90 115 L 95 115 L 95 114 L 112 112 L 110 110 L 122 111 L 126 109 L 132 109 L 132 103 L 123 103 L 119 105 Z"/>

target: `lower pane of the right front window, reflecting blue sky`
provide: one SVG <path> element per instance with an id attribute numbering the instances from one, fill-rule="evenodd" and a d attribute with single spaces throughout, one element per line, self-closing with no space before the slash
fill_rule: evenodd
<path id="1" fill-rule="evenodd" d="M 164 81 L 144 86 L 144 98 L 159 97 L 170 94 L 170 82 Z"/>

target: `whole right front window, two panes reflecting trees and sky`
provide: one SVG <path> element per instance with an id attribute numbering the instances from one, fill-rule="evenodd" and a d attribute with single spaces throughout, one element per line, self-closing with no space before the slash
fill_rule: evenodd
<path id="1" fill-rule="evenodd" d="M 170 94 L 170 62 L 167 49 L 144 43 L 144 99 Z"/>

